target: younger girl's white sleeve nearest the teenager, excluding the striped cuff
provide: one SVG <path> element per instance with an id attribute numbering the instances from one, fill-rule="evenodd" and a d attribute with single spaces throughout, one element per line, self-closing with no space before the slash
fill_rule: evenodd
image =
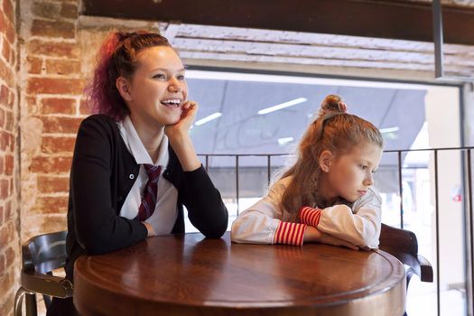
<path id="1" fill-rule="evenodd" d="M 282 218 L 278 204 L 286 189 L 286 180 L 277 181 L 268 195 L 246 209 L 234 220 L 231 240 L 237 243 L 274 244 L 274 234 Z"/>

